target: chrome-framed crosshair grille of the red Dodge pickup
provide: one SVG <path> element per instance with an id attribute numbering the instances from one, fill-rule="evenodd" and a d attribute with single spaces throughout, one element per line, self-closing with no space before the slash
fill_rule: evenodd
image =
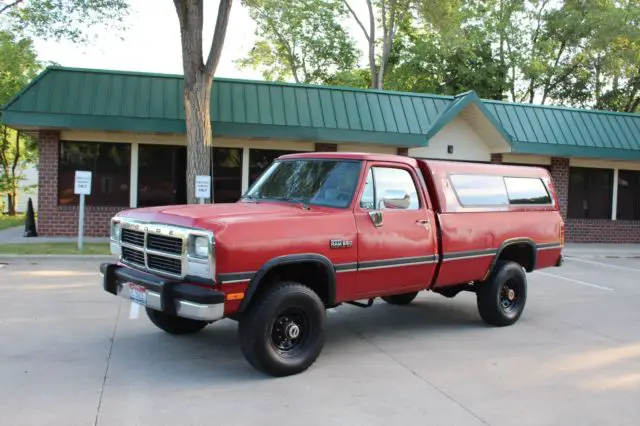
<path id="1" fill-rule="evenodd" d="M 122 229 L 122 261 L 137 269 L 181 277 L 184 242 L 149 230 Z M 151 253 L 149 253 L 151 252 Z"/>

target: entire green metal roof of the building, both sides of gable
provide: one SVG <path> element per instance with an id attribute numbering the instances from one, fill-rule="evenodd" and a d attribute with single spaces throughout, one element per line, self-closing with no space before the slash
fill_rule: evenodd
<path id="1" fill-rule="evenodd" d="M 184 133 L 180 75 L 49 67 L 3 108 L 17 128 Z M 513 152 L 640 160 L 640 114 L 456 97 L 215 79 L 214 135 L 362 142 L 428 140 L 469 105 Z"/>

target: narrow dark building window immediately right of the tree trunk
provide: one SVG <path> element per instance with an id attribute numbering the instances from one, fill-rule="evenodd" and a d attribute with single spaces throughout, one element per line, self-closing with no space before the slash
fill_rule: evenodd
<path id="1" fill-rule="evenodd" d="M 235 203 L 242 196 L 242 148 L 213 148 L 214 203 Z"/>

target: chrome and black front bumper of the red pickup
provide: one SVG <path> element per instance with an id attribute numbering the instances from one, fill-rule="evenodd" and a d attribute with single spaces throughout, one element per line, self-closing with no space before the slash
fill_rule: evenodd
<path id="1" fill-rule="evenodd" d="M 100 265 L 102 286 L 113 295 L 131 299 L 131 285 L 145 288 L 145 307 L 170 315 L 199 321 L 224 318 L 224 293 L 188 282 L 174 281 L 142 273 L 126 266 Z"/>

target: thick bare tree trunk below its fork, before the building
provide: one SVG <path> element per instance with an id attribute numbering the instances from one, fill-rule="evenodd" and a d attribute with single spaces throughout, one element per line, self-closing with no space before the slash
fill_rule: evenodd
<path id="1" fill-rule="evenodd" d="M 185 82 L 184 109 L 187 124 L 187 202 L 194 204 L 196 176 L 211 175 L 211 79 L 202 73 L 193 83 Z M 212 179 L 213 180 L 213 179 Z M 213 187 L 213 182 L 211 182 Z M 207 198 L 205 202 L 211 201 Z"/>

